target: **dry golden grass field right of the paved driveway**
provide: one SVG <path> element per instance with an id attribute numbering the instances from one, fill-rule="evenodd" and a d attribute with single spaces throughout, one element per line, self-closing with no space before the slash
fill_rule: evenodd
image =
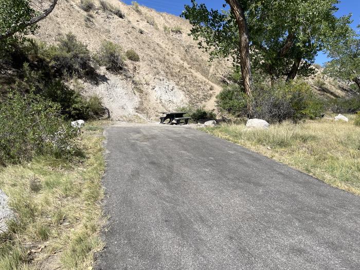
<path id="1" fill-rule="evenodd" d="M 268 130 L 222 124 L 206 132 L 309 173 L 331 186 L 360 195 L 360 127 L 332 119 L 289 122 Z"/>

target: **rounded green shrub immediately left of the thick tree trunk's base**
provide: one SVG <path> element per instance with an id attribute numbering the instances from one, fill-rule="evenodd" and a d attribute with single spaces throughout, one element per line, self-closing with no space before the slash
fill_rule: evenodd
<path id="1" fill-rule="evenodd" d="M 235 117 L 247 114 L 247 98 L 238 84 L 227 86 L 216 97 L 216 105 L 222 113 Z"/>

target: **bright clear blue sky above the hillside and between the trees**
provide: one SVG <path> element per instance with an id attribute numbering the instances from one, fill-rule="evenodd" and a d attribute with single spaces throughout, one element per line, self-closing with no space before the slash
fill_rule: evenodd
<path id="1" fill-rule="evenodd" d="M 132 0 L 122 0 L 122 2 L 126 4 L 131 4 Z M 140 5 L 144 5 L 147 7 L 154 8 L 160 12 L 168 12 L 174 15 L 179 15 L 184 10 L 185 4 L 190 4 L 190 0 L 138 0 Z M 222 0 L 198 0 L 197 3 L 205 3 L 208 8 L 213 9 L 221 9 L 222 4 L 225 1 Z M 352 23 L 352 27 L 355 29 L 357 25 L 360 24 L 360 0 L 342 0 L 340 4 L 338 4 L 339 10 L 336 12 L 337 16 L 345 15 L 352 13 L 352 19 L 354 22 Z M 322 52 L 319 52 L 316 57 L 316 63 L 323 64 L 327 61 L 326 55 Z"/>

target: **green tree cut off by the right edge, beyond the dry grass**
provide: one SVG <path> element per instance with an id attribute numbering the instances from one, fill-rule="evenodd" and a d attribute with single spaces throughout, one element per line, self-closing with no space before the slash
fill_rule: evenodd
<path id="1" fill-rule="evenodd" d="M 357 26 L 360 28 L 360 25 Z M 348 82 L 354 82 L 360 91 L 360 40 L 354 35 L 338 41 L 329 52 L 331 61 L 325 64 L 325 74 Z"/>

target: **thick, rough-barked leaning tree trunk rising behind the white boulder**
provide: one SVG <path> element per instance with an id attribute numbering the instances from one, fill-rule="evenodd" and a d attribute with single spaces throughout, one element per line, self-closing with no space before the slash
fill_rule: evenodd
<path id="1" fill-rule="evenodd" d="M 232 13 L 235 15 L 236 22 L 239 28 L 239 54 L 240 54 L 240 66 L 241 75 L 243 79 L 244 89 L 246 95 L 251 98 L 253 95 L 253 75 L 251 74 L 250 66 L 250 51 L 249 51 L 249 30 L 247 28 L 246 17 L 244 10 L 241 7 L 239 0 L 227 0 L 230 5 Z M 253 116 L 253 107 L 251 100 L 248 99 L 247 111 L 250 117 Z"/>

